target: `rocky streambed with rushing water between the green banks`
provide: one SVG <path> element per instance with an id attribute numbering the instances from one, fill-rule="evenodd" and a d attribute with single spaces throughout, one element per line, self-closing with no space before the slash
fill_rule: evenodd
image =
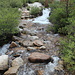
<path id="1" fill-rule="evenodd" d="M 47 19 L 50 9 L 32 19 L 26 8 L 21 11 L 20 36 L 0 48 L 0 75 L 64 75 L 58 57 L 60 35 L 46 32 L 52 25 Z"/>

